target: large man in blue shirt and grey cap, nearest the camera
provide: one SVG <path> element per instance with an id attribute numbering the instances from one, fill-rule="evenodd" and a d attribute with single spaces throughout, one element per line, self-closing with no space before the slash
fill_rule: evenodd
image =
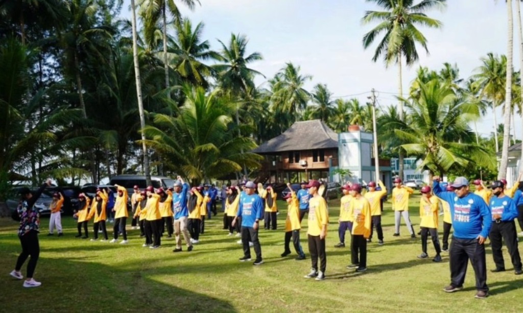
<path id="1" fill-rule="evenodd" d="M 466 178 L 456 178 L 451 186 L 454 192 L 444 191 L 439 184 L 439 176 L 434 176 L 434 194 L 449 203 L 454 227 L 449 252 L 451 282 L 444 291 L 451 293 L 463 289 L 470 259 L 476 276 L 475 297 L 486 298 L 488 286 L 484 243 L 492 226 L 491 211 L 479 195 L 469 191 Z"/>

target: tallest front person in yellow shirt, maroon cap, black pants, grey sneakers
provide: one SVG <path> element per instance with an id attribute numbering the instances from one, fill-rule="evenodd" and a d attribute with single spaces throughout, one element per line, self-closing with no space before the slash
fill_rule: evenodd
<path id="1" fill-rule="evenodd" d="M 321 183 L 311 179 L 305 186 L 309 188 L 311 198 L 309 200 L 309 216 L 307 237 L 309 241 L 309 253 L 311 254 L 312 269 L 305 278 L 313 278 L 317 281 L 325 279 L 325 270 L 327 268 L 327 256 L 325 254 L 325 237 L 327 236 L 328 211 L 327 202 L 318 193 Z M 318 268 L 318 259 L 320 259 L 320 268 Z M 318 271 L 319 270 L 319 271 Z"/>

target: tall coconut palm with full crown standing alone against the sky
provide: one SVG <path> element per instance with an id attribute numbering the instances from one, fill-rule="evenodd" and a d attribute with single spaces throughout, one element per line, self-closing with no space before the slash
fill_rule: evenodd
<path id="1" fill-rule="evenodd" d="M 416 44 L 421 45 L 428 53 L 427 39 L 423 36 L 416 26 L 429 28 L 441 28 L 441 22 L 429 18 L 425 12 L 438 8 L 444 9 L 446 0 L 422 0 L 414 4 L 414 0 L 367 0 L 378 5 L 383 11 L 366 11 L 362 18 L 363 24 L 370 24 L 379 21 L 378 26 L 374 27 L 363 36 L 363 48 L 367 49 L 374 42 L 380 33 L 384 33 L 372 61 L 376 62 L 383 57 L 385 66 L 391 63 L 398 65 L 399 95 L 403 97 L 402 85 L 402 59 L 405 58 L 406 64 L 411 65 L 418 60 Z M 399 102 L 400 119 L 403 120 L 403 103 Z M 403 177 L 403 154 L 400 151 L 400 177 Z"/>

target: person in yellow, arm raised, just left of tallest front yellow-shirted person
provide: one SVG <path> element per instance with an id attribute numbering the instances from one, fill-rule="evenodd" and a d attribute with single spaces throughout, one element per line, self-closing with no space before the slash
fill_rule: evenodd
<path id="1" fill-rule="evenodd" d="M 290 183 L 287 183 L 287 187 L 289 187 L 289 193 L 283 197 L 288 204 L 287 219 L 285 221 L 285 251 L 281 253 L 281 257 L 284 258 L 291 254 L 289 245 L 292 238 L 294 250 L 298 253 L 296 260 L 305 260 L 305 253 L 300 245 L 300 202 L 298 201 L 296 192 L 292 189 Z"/>

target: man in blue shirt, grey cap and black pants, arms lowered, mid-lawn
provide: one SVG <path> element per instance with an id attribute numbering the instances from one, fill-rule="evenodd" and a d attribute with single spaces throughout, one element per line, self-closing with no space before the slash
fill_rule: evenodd
<path id="1" fill-rule="evenodd" d="M 233 219 L 232 225 L 236 225 L 237 219 L 242 218 L 242 244 L 243 244 L 243 258 L 241 262 L 251 260 L 251 248 L 249 248 L 249 241 L 253 243 L 254 252 L 256 253 L 256 260 L 254 265 L 263 263 L 261 259 L 261 246 L 258 240 L 259 220 L 264 216 L 264 203 L 259 195 L 254 193 L 256 184 L 248 181 L 245 184 L 245 194 L 240 198 L 238 205 L 238 213 Z"/>

